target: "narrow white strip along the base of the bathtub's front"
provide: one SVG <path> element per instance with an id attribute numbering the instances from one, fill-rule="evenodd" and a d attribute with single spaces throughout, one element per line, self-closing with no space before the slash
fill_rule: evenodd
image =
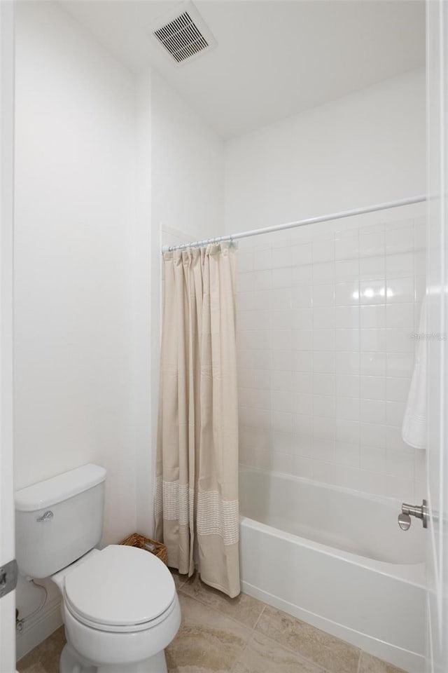
<path id="1" fill-rule="evenodd" d="M 383 659 L 405 671 L 409 671 L 409 673 L 421 673 L 425 669 L 424 658 L 415 652 L 403 650 L 390 643 L 380 641 L 376 638 L 367 636 L 364 633 L 354 631 L 341 624 L 332 622 L 331 620 L 304 610 L 292 603 L 288 603 L 288 601 L 284 601 L 279 597 L 273 596 L 267 591 L 263 591 L 248 582 L 241 582 L 241 590 L 253 598 L 258 598 L 258 600 L 263 601 L 268 605 L 272 605 L 274 608 L 286 612 L 303 622 L 307 622 L 317 629 L 330 633 L 332 636 L 340 638 L 379 659 Z"/>

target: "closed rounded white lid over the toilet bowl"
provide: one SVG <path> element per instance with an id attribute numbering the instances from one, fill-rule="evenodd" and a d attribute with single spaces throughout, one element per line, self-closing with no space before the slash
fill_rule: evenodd
<path id="1" fill-rule="evenodd" d="M 66 576 L 64 591 L 80 618 L 129 626 L 164 613 L 176 587 L 167 566 L 153 554 L 109 545 Z"/>

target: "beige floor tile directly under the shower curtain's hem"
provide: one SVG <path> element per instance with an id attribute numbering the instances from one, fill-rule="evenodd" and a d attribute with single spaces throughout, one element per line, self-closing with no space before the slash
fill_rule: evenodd
<path id="1" fill-rule="evenodd" d="M 221 591 L 204 584 L 197 573 L 181 587 L 181 592 L 241 622 L 250 629 L 253 629 L 265 608 L 264 603 L 247 594 L 241 593 L 236 598 L 225 596 Z"/>

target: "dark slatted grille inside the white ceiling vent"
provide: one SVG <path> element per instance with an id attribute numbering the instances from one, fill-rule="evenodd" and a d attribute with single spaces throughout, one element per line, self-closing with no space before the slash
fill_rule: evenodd
<path id="1" fill-rule="evenodd" d="M 176 63 L 187 60 L 209 46 L 188 12 L 183 12 L 153 34 Z"/>

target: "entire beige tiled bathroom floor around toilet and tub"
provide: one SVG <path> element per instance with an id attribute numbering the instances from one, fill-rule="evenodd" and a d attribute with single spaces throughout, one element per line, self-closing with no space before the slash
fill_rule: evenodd
<path id="1" fill-rule="evenodd" d="M 182 625 L 166 651 L 169 673 L 403 673 L 247 594 L 230 599 L 173 574 Z M 64 642 L 61 627 L 18 662 L 19 673 L 58 673 Z"/>

